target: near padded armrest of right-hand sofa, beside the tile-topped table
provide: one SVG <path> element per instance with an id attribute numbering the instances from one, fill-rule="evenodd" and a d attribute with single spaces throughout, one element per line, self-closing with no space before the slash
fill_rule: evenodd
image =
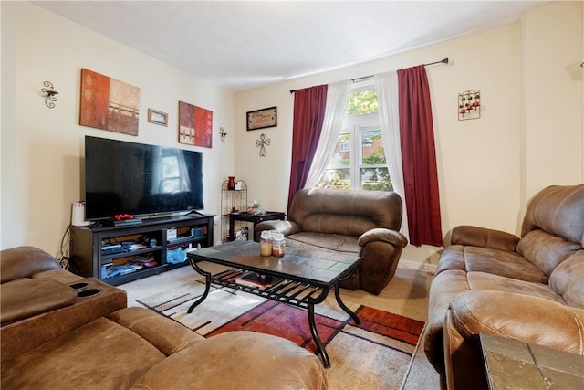
<path id="1" fill-rule="evenodd" d="M 464 339 L 486 332 L 584 354 L 583 309 L 506 291 L 465 291 L 450 309 L 452 326 Z"/>

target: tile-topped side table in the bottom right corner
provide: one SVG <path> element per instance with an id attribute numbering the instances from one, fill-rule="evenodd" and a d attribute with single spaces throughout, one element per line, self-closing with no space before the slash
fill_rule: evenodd
<path id="1" fill-rule="evenodd" d="M 584 388 L 584 356 L 481 332 L 491 390 Z"/>

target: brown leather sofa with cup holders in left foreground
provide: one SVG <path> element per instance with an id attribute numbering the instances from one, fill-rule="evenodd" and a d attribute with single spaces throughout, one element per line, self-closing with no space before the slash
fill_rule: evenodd
<path id="1" fill-rule="evenodd" d="M 32 247 L 0 252 L 2 389 L 325 389 L 313 353 L 256 332 L 209 339 Z"/>

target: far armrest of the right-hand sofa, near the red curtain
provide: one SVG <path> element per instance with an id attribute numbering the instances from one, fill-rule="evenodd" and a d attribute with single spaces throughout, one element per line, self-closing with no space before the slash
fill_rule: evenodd
<path id="1" fill-rule="evenodd" d="M 515 252 L 519 237 L 504 231 L 485 227 L 454 227 L 451 237 L 453 245 L 468 245 Z"/>

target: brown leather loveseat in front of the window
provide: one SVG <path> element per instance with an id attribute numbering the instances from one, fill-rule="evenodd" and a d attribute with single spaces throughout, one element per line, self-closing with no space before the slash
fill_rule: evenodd
<path id="1" fill-rule="evenodd" d="M 264 221 L 255 227 L 284 233 L 286 245 L 354 253 L 360 268 L 341 287 L 379 294 L 390 282 L 408 241 L 399 232 L 401 197 L 397 193 L 364 190 L 298 191 L 286 221 Z"/>

